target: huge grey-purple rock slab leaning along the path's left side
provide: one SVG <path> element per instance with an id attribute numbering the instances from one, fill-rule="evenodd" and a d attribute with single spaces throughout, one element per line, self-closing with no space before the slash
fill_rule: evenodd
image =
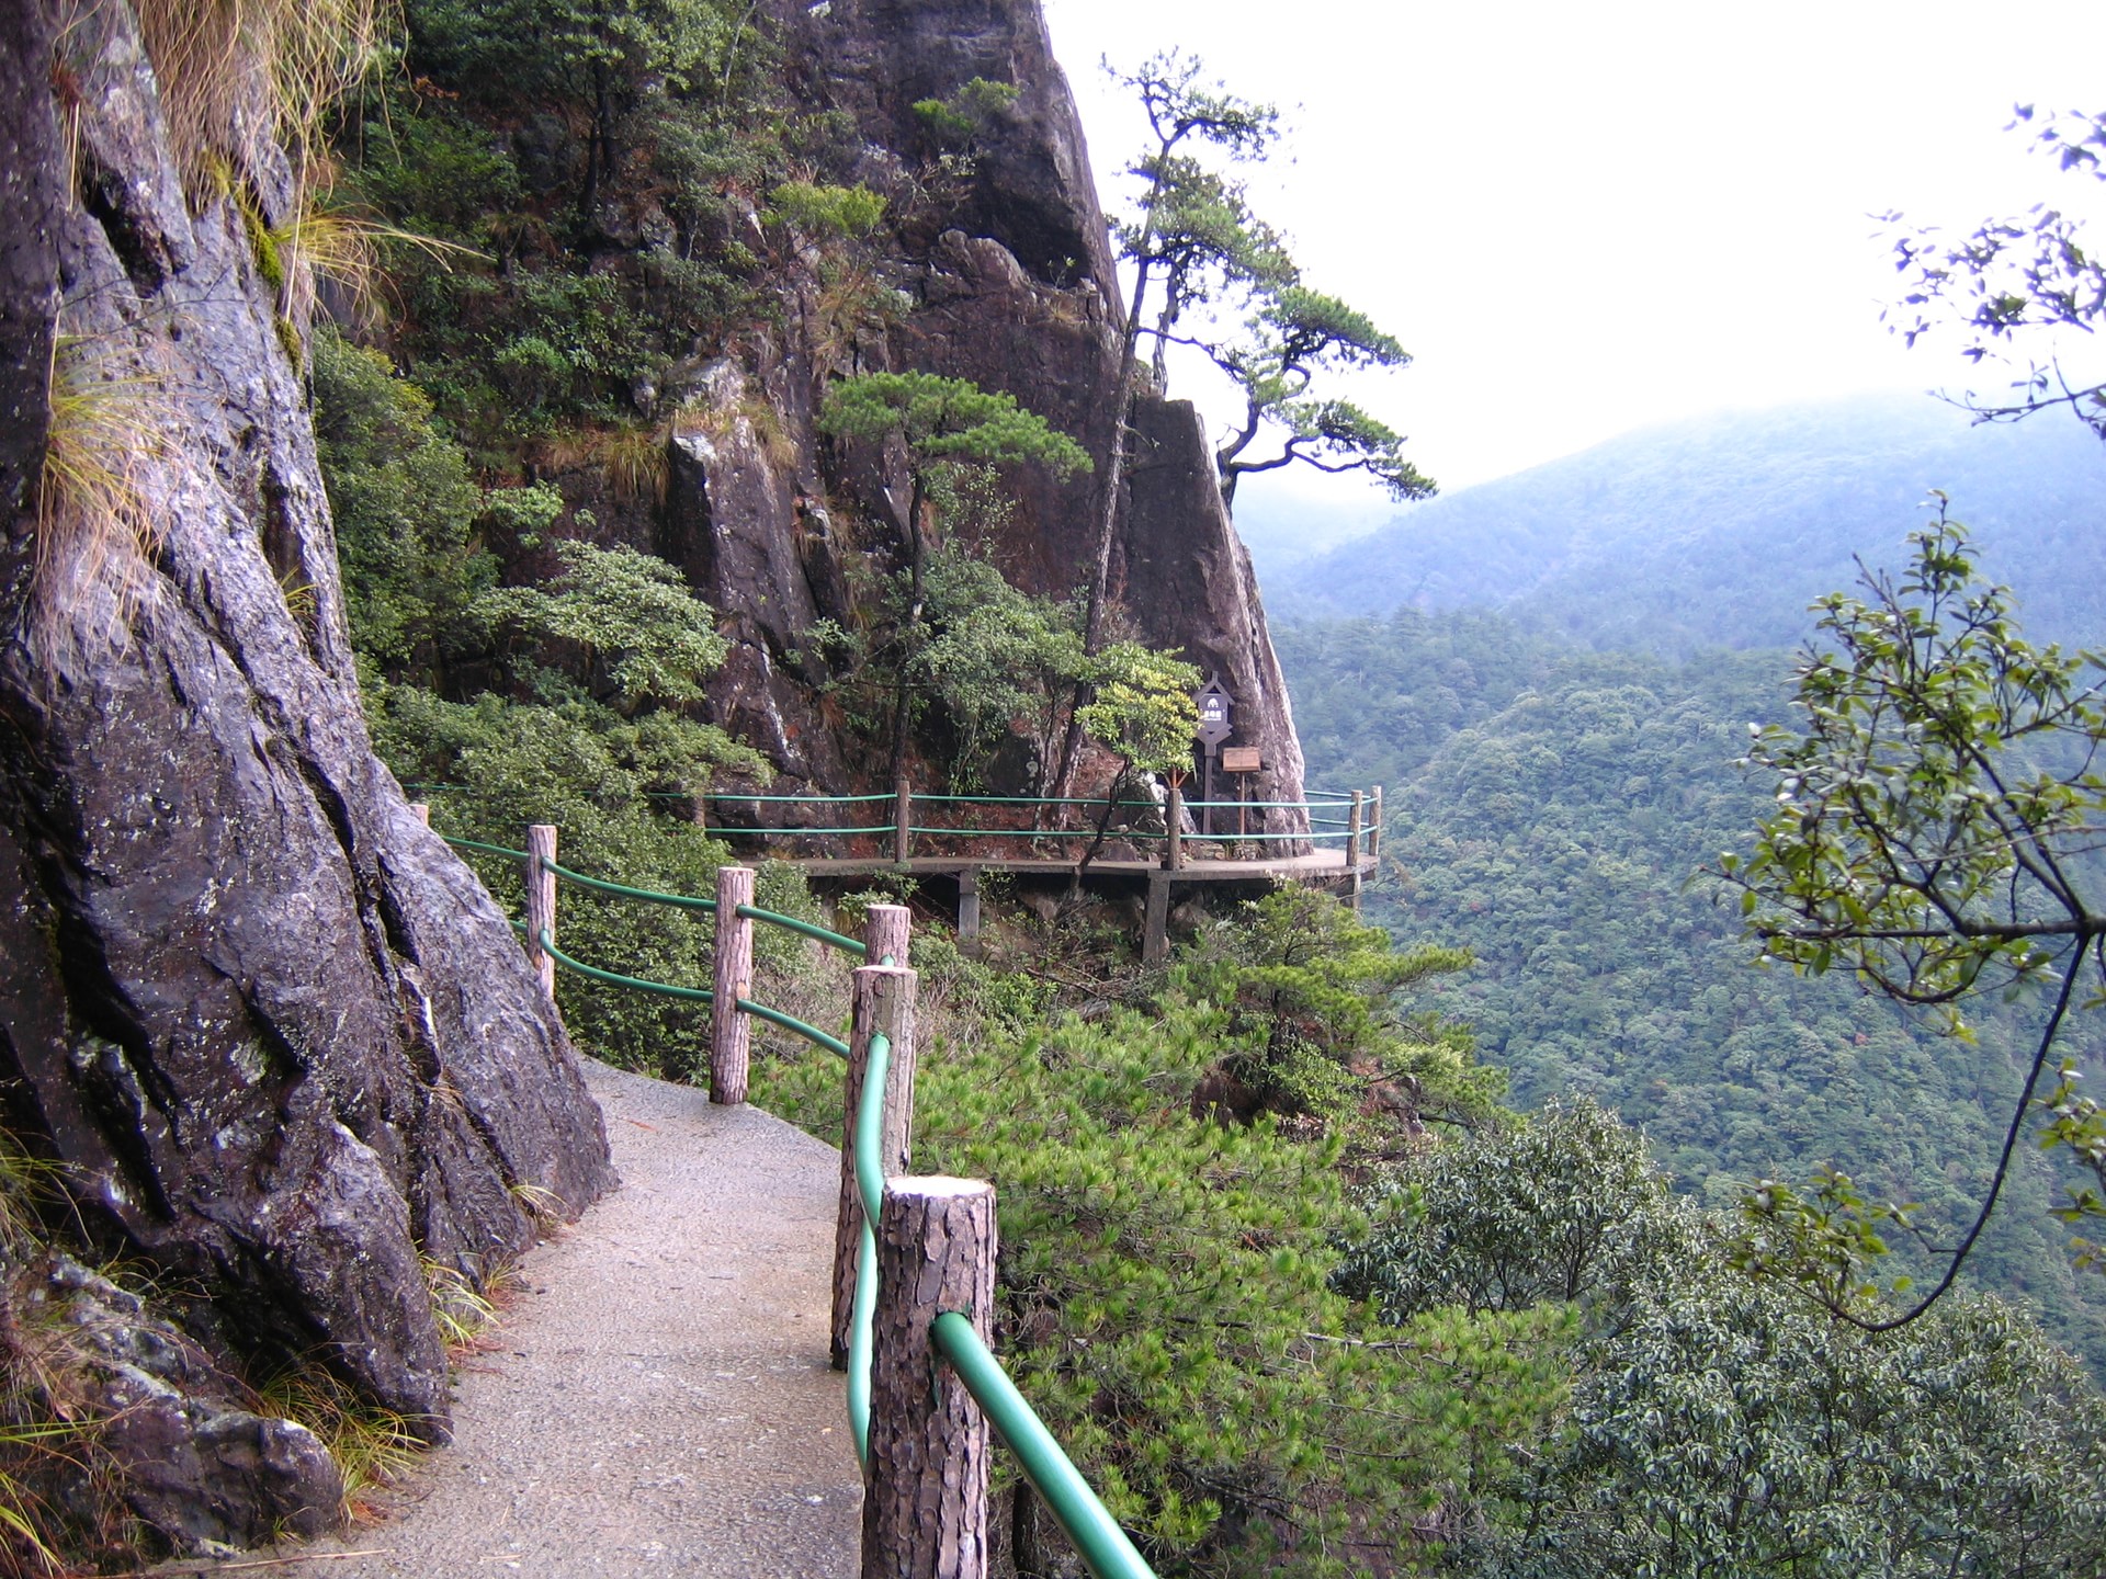
<path id="1" fill-rule="evenodd" d="M 440 1436 L 421 1261 L 480 1276 L 535 1236 L 516 1190 L 607 1190 L 600 1116 L 503 914 L 373 756 L 293 326 L 236 198 L 192 215 L 126 6 L 82 8 L 59 69 L 6 13 L 8 398 L 57 299 L 53 446 L 91 482 L 55 474 L 42 520 L 34 488 L 0 501 L 4 1124 L 206 1345 L 326 1356 Z M 65 189 L 57 93 L 80 202 L 40 251 L 17 225 Z M 232 185 L 293 213 L 274 149 Z M 8 423 L 8 476 L 21 453 Z"/>

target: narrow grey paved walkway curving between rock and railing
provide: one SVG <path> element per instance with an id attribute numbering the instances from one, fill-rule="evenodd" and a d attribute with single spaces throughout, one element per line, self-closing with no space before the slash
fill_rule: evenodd
<path id="1" fill-rule="evenodd" d="M 861 1478 L 826 1364 L 838 1154 L 689 1086 L 585 1074 L 623 1187 L 520 1261 L 453 1446 L 388 1518 L 263 1573 L 853 1579 Z"/>

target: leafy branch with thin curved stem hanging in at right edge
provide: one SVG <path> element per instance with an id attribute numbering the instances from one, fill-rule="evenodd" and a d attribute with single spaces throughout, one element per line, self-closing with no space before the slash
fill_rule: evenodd
<path id="1" fill-rule="evenodd" d="M 1811 1192 L 1763 1181 L 1748 1196 L 1744 1265 L 1792 1278 L 1874 1331 L 1914 1320 L 1952 1286 L 2030 1112 L 2045 1110 L 2041 1143 L 2095 1181 L 2060 1215 L 2106 1219 L 2106 1118 L 2077 1095 L 2077 1067 L 2062 1063 L 2058 1086 L 2034 1097 L 2068 1013 L 2098 1004 L 2106 981 L 2106 910 L 2093 895 L 2106 661 L 2028 644 L 2011 594 L 1975 575 L 1967 531 L 1944 509 L 1910 543 L 1900 581 L 1868 573 L 1864 598 L 1815 604 L 1820 644 L 1796 674 L 1803 726 L 1756 731 L 1746 758 L 1775 775 L 1777 808 L 1748 857 L 1718 863 L 1765 958 L 1809 973 L 1841 964 L 1898 1002 L 1944 1011 L 1961 1034 L 1980 994 L 2047 1000 L 1988 1194 L 1944 1276 L 1906 1312 L 1881 1314 L 1864 1270 L 1887 1253 L 1881 1230 L 1910 1227 L 1912 1206 L 1868 1202 L 1832 1171 Z M 2089 1240 L 2077 1251 L 2098 1261 Z"/>

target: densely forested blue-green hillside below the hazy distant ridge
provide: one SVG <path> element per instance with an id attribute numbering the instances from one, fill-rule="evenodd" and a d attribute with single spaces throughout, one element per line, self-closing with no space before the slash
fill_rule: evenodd
<path id="1" fill-rule="evenodd" d="M 1428 1000 L 1476 1027 L 1523 1107 L 1615 1107 L 1710 1206 L 1832 1162 L 1925 1202 L 1942 1242 L 1965 1225 L 2030 1055 L 2024 1015 L 1969 1046 L 1841 973 L 1756 968 L 1740 912 L 1693 882 L 1769 798 L 1733 760 L 1750 722 L 1784 716 L 1790 655 L 1672 663 L 1415 611 L 1289 627 L 1280 653 L 1316 781 L 1392 785 L 1369 914 L 1474 952 Z M 2047 1198 L 2037 1168 L 1975 1280 L 2102 1364 L 2106 1291 L 2070 1270 Z"/>

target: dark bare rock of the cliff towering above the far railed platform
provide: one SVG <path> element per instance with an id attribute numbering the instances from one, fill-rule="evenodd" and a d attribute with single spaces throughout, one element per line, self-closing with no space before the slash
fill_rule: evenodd
<path id="1" fill-rule="evenodd" d="M 1122 303 L 1082 128 L 1036 0 L 798 2 L 777 4 L 775 17 L 798 99 L 853 118 L 863 139 L 857 175 L 893 198 L 893 269 L 910 312 L 821 349 L 815 293 L 792 286 L 781 339 L 691 385 L 701 396 L 691 411 L 703 415 L 674 434 L 674 486 L 655 541 L 743 638 L 714 691 L 720 722 L 792 779 L 840 790 L 851 775 L 794 659 L 800 632 L 838 613 L 842 598 L 842 547 L 813 495 L 832 486 L 897 533 L 908 488 L 897 465 L 842 472 L 813 440 L 826 377 L 914 368 L 973 379 L 1078 438 L 1101 476 Z M 973 78 L 1013 84 L 1017 99 L 975 147 L 965 187 L 931 198 L 914 103 Z M 752 417 L 756 398 L 779 436 L 773 453 Z M 1181 651 L 1230 686 L 1236 743 L 1257 745 L 1266 764 L 1253 798 L 1297 800 L 1302 747 L 1200 421 L 1186 402 L 1146 398 L 1137 427 L 1112 598 L 1135 636 Z M 1017 472 L 1009 482 L 1017 509 L 992 545 L 996 562 L 1028 592 L 1074 592 L 1095 543 L 1095 478 L 1061 484 Z M 1306 823 L 1270 813 L 1268 827 Z"/>

